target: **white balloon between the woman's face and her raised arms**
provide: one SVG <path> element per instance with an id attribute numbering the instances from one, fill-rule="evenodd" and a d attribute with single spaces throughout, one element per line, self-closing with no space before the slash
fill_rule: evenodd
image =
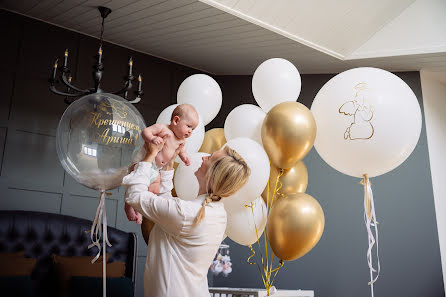
<path id="1" fill-rule="evenodd" d="M 190 157 L 190 165 L 180 163 L 175 170 L 174 185 L 178 198 L 183 200 L 194 200 L 198 196 L 198 180 L 195 172 L 201 167 L 203 157 L 209 156 L 207 153 L 194 153 Z"/>

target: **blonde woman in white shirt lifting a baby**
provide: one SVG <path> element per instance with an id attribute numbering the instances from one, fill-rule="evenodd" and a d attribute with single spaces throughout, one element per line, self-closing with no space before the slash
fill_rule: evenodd
<path id="1" fill-rule="evenodd" d="M 208 297 L 207 271 L 226 229 L 222 198 L 237 192 L 250 170 L 237 152 L 225 147 L 203 157 L 195 172 L 197 199 L 172 197 L 174 158 L 161 170 L 159 195 L 147 190 L 150 166 L 163 144 L 147 144 L 147 154 L 124 177 L 126 202 L 155 223 L 144 272 L 145 297 Z"/>

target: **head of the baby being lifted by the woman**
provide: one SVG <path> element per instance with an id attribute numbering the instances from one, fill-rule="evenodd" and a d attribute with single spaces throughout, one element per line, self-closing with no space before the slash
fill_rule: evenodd
<path id="1" fill-rule="evenodd" d="M 188 138 L 198 125 L 198 112 L 190 104 L 180 104 L 172 112 L 169 128 L 180 139 Z"/>

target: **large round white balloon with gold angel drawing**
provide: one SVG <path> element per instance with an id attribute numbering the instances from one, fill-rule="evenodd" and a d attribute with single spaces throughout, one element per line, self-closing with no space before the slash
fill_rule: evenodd
<path id="1" fill-rule="evenodd" d="M 382 69 L 336 75 L 316 95 L 311 111 L 317 152 L 336 170 L 355 177 L 396 168 L 420 137 L 417 97 L 402 79 Z"/>

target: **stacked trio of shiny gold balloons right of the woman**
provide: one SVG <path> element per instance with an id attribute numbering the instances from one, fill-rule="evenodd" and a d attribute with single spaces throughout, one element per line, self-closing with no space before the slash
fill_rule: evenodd
<path id="1" fill-rule="evenodd" d="M 274 106 L 262 126 L 262 142 L 271 161 L 267 204 L 267 237 L 274 254 L 291 261 L 308 253 L 324 231 L 325 217 L 316 199 L 304 192 L 308 172 L 302 159 L 316 138 L 311 111 L 298 102 Z"/>

